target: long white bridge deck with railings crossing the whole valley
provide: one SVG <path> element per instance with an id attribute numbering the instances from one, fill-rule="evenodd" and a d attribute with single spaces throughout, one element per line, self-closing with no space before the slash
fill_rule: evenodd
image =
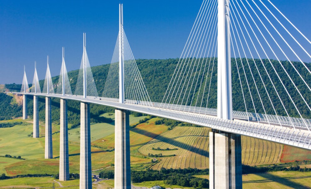
<path id="1" fill-rule="evenodd" d="M 106 105 L 118 109 L 126 109 L 135 112 L 141 112 L 145 114 L 151 114 L 163 118 L 174 119 L 182 122 L 196 124 L 200 126 L 210 127 L 213 129 L 221 130 L 229 133 L 236 133 L 249 137 L 264 139 L 276 143 L 286 144 L 298 148 L 311 150 L 311 135 L 310 131 L 301 129 L 291 129 L 275 125 L 269 125 L 264 123 L 254 123 L 241 120 L 224 120 L 219 119 L 215 115 L 215 109 L 197 109 L 195 111 L 189 111 L 188 108 L 180 111 L 180 107 L 175 108 L 160 108 L 159 104 L 152 104 L 151 106 L 140 105 L 140 103 L 126 102 L 124 104 L 118 103 L 117 99 L 86 99 L 75 95 L 60 95 L 60 94 L 34 94 L 34 93 L 15 93 L 15 94 L 26 94 L 26 95 L 38 95 L 38 96 L 49 96 L 62 99 L 71 99 L 81 102 L 89 102 L 93 104 Z M 165 107 L 165 106 L 164 106 Z M 205 114 L 202 114 L 204 111 Z M 209 113 L 207 113 L 209 112 Z M 273 115 L 272 115 L 273 116 Z M 240 113 L 235 111 L 234 117 L 238 119 L 249 119 L 249 115 L 246 113 Z M 261 116 L 262 120 L 267 119 Z M 288 119 L 283 119 L 284 123 Z M 298 120 L 298 119 L 297 119 Z M 307 120 L 309 121 L 309 120 Z M 270 121 L 272 122 L 272 121 Z M 272 122 L 273 123 L 273 122 Z M 278 122 L 277 122 L 278 123 Z M 282 123 L 282 122 L 281 122 Z M 286 122 L 287 123 L 287 122 Z M 299 120 L 296 122 L 296 126 L 299 127 Z M 308 123 L 310 124 L 310 122 Z M 307 124 L 307 125 L 308 125 Z M 305 126 L 306 127 L 306 126 Z M 309 127 L 309 125 L 308 125 Z M 306 129 L 306 128 L 304 128 Z"/>

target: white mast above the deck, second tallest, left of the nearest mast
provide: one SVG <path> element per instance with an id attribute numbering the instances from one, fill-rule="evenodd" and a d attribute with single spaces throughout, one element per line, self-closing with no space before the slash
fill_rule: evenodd
<path id="1" fill-rule="evenodd" d="M 119 5 L 119 102 L 124 103 L 123 4 Z"/>

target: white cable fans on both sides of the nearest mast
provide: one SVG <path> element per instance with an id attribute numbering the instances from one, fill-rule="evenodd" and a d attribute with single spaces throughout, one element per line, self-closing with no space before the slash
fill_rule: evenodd
<path id="1" fill-rule="evenodd" d="M 202 2 L 162 108 L 215 114 L 210 108 L 217 108 L 217 2 Z M 270 0 L 231 0 L 226 8 L 234 116 L 246 112 L 239 116 L 310 129 L 304 118 L 311 118 L 311 66 L 302 59 L 310 60 L 311 42 Z"/>

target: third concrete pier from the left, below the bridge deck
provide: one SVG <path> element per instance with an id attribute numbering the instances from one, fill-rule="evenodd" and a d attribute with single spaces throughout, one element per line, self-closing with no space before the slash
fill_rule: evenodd
<path id="1" fill-rule="evenodd" d="M 51 116 L 51 99 L 45 97 L 45 159 L 53 158 L 52 148 L 52 116 Z"/>

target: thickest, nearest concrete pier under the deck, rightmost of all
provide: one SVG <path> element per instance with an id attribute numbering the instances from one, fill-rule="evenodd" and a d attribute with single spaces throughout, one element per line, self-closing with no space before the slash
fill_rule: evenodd
<path id="1" fill-rule="evenodd" d="M 210 189 L 242 188 L 241 136 L 210 132 Z"/>

